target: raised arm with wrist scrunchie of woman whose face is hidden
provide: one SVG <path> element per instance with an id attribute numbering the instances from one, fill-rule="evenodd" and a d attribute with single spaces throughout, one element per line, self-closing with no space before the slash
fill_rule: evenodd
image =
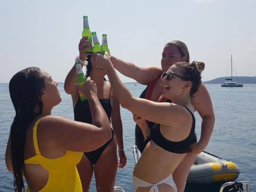
<path id="1" fill-rule="evenodd" d="M 85 51 L 92 48 L 91 47 L 92 45 L 90 42 L 85 42 L 87 38 L 88 38 L 87 36 L 84 36 L 83 38 L 81 38 L 78 45 L 79 58 L 83 61 L 86 60 L 87 58 L 87 54 L 85 53 Z M 81 67 L 83 67 L 82 64 L 81 64 Z M 68 73 L 64 83 L 64 89 L 67 94 L 72 94 L 75 91 L 75 87 L 74 87 L 75 82 L 76 82 L 76 67 L 74 65 L 70 70 L 70 72 Z"/>

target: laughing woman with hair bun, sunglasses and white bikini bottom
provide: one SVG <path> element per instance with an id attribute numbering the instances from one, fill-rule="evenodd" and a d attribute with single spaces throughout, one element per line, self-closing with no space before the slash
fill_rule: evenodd
<path id="1" fill-rule="evenodd" d="M 133 97 L 117 76 L 107 54 L 93 54 L 91 61 L 93 66 L 106 71 L 113 92 L 123 108 L 155 122 L 134 168 L 135 191 L 177 191 L 172 174 L 189 152 L 195 137 L 192 99 L 201 86 L 204 63 L 176 62 L 162 73 L 162 95 L 172 100 L 170 103 Z"/>

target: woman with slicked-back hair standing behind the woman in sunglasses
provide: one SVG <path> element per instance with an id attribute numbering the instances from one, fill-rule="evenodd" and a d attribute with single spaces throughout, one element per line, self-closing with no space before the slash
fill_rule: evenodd
<path id="1" fill-rule="evenodd" d="M 110 58 L 113 66 L 120 73 L 147 86 L 141 93 L 140 98 L 156 102 L 171 102 L 162 95 L 164 86 L 161 75 L 176 62 L 189 62 L 189 52 L 186 44 L 180 40 L 168 42 L 162 51 L 161 68 L 156 66 L 140 67 L 132 62 L 123 61 L 114 56 L 110 56 Z M 197 142 L 195 134 L 189 152 L 173 173 L 178 192 L 184 191 L 189 169 L 195 162 L 197 154 L 200 154 L 207 146 L 212 130 L 214 129 L 214 110 L 212 109 L 211 99 L 204 84 L 201 84 L 192 102 L 193 111 L 197 111 L 202 118 L 201 137 Z M 138 114 L 134 114 L 134 120 L 137 123 L 135 127 L 135 143 L 140 152 L 143 152 L 147 143 L 146 135 L 150 132 L 154 122 L 148 119 L 142 119 Z"/>

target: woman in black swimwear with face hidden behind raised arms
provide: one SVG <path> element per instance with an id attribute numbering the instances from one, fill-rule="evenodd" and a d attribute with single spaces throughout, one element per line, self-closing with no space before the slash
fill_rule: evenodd
<path id="1" fill-rule="evenodd" d="M 78 47 L 80 53 L 79 59 L 82 61 L 87 58 L 87 54 L 84 52 L 92 48 L 91 44 L 86 42 L 86 39 L 87 37 L 83 37 Z M 117 167 L 123 168 L 126 164 L 126 157 L 123 150 L 120 104 L 111 91 L 111 84 L 105 81 L 105 75 L 106 72 L 104 70 L 87 65 L 86 76 L 90 76 L 97 84 L 99 101 L 109 117 L 109 122 L 106 123 L 112 121 L 113 130 L 112 138 L 108 142 L 95 151 L 84 153 L 82 160 L 77 165 L 83 191 L 89 191 L 93 173 L 98 192 L 113 191 Z M 80 100 L 79 93 L 74 87 L 75 81 L 76 69 L 74 66 L 66 77 L 64 88 L 66 93 L 72 96 L 75 120 L 92 123 L 89 103 L 87 100 Z M 117 160 L 116 144 L 118 145 L 119 163 Z M 108 166 L 105 166 L 106 164 Z"/>

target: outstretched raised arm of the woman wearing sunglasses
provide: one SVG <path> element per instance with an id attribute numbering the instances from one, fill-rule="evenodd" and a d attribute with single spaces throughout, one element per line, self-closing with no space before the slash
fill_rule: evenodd
<path id="1" fill-rule="evenodd" d="M 94 66 L 106 70 L 113 93 L 123 108 L 128 109 L 143 119 L 163 125 L 176 125 L 176 123 L 180 124 L 185 119 L 191 118 L 191 115 L 183 106 L 133 97 L 131 92 L 119 79 L 108 55 L 101 56 L 99 54 L 93 54 L 91 61 Z M 151 113 L 156 110 L 156 113 Z"/>

